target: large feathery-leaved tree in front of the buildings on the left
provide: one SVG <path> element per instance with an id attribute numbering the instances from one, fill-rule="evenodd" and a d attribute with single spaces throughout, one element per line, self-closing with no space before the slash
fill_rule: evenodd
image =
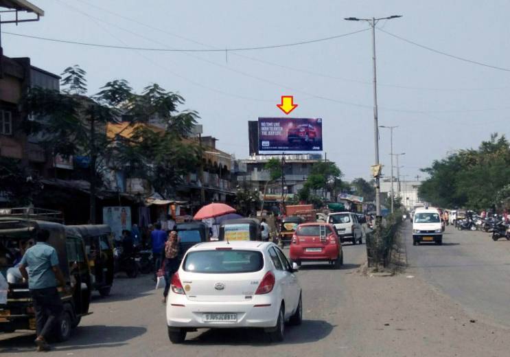
<path id="1" fill-rule="evenodd" d="M 194 162 L 194 148 L 191 145 L 183 148 L 183 145 L 177 143 L 189 133 L 198 117 L 192 111 L 176 113 L 178 104 L 184 102 L 183 97 L 167 92 L 157 84 L 146 87 L 141 95 L 137 95 L 133 93 L 126 80 L 107 82 L 99 93 L 87 96 L 84 95 L 86 93 L 84 70 L 79 66 L 73 66 L 68 67 L 63 74 L 65 76 L 62 78 L 64 87 L 62 93 L 40 88 L 33 88 L 27 92 L 22 101 L 23 111 L 42 119 L 34 122 L 25 120 L 25 130 L 27 133 L 42 137 L 41 144 L 52 156 L 82 155 L 90 159 L 86 179 L 90 182 L 91 222 L 95 222 L 96 193 L 103 183 L 102 174 L 109 164 L 119 165 L 117 157 L 126 158 L 126 152 L 138 154 L 132 161 L 143 157 L 146 160 L 143 163 L 144 168 L 152 169 L 154 165 L 153 171 L 139 170 L 139 173 L 149 171 L 148 176 L 161 174 L 163 179 L 174 178 L 168 181 L 169 185 L 175 183 L 176 177 L 182 173 L 180 169 L 174 169 L 176 165 L 188 168 L 185 159 Z M 127 120 L 126 130 L 137 127 L 137 124 L 144 124 L 150 119 L 164 122 L 168 134 L 155 137 L 140 129 L 135 130 L 133 140 L 121 139 L 122 133 L 114 138 L 106 135 L 108 123 Z M 152 141 L 151 145 L 156 150 L 140 152 L 140 148 L 146 148 L 144 146 L 146 139 Z M 139 164 L 138 167 L 143 168 L 143 165 Z M 161 186 L 157 179 L 152 182 L 156 187 Z M 161 187 L 159 189 L 161 190 Z"/>

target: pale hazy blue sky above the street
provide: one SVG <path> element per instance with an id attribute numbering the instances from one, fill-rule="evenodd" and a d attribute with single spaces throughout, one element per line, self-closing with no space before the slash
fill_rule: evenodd
<path id="1" fill-rule="evenodd" d="M 40 21 L 2 25 L 3 53 L 30 57 L 60 74 L 69 65 L 87 72 L 89 93 L 125 79 L 136 91 L 158 83 L 178 92 L 181 110 L 198 111 L 204 135 L 220 150 L 248 157 L 248 120 L 284 117 L 281 95 L 299 106 L 290 116 L 323 118 L 323 148 L 346 180 L 370 179 L 375 163 L 372 47 L 376 36 L 379 124 L 393 130 L 393 152 L 404 179 L 491 133 L 509 136 L 510 1 L 493 0 L 31 0 Z M 150 3 L 150 5 L 147 5 Z M 175 52 L 87 47 L 12 36 L 161 49 L 233 49 L 309 41 L 249 51 Z M 384 31 L 384 32 L 382 32 Z M 386 32 L 494 69 L 418 47 Z M 505 71 L 504 69 L 509 69 Z M 380 132 L 380 162 L 390 174 L 389 130 Z M 396 165 L 396 163 L 394 163 Z"/>

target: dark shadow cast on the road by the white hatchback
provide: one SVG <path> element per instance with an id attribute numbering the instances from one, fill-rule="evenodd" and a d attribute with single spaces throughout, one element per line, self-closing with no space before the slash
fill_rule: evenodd
<path id="1" fill-rule="evenodd" d="M 310 343 L 326 338 L 334 325 L 321 320 L 303 320 L 299 326 L 286 325 L 281 344 Z M 270 339 L 262 329 L 207 330 L 200 336 L 185 341 L 186 345 L 267 345 Z"/>

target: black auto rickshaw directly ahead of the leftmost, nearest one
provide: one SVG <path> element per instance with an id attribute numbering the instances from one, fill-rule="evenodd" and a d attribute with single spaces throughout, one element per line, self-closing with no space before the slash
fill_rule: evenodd
<path id="1" fill-rule="evenodd" d="M 78 233 L 82 237 L 91 268 L 93 290 L 99 291 L 103 297 L 108 296 L 114 275 L 110 226 L 106 224 L 66 226 L 66 231 Z"/>

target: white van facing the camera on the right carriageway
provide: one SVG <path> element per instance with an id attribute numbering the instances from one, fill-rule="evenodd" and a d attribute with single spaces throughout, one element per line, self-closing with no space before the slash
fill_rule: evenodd
<path id="1" fill-rule="evenodd" d="M 443 244 L 443 228 L 439 211 L 432 207 L 418 208 L 413 216 L 413 245 L 421 242 Z"/>

